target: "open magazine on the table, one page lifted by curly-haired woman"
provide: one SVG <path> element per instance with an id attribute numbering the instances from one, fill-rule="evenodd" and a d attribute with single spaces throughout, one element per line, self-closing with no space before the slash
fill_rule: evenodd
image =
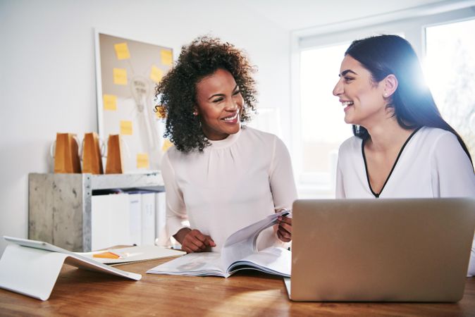
<path id="1" fill-rule="evenodd" d="M 288 216 L 290 211 L 280 211 L 237 230 L 230 235 L 218 252 L 190 253 L 178 259 L 150 269 L 147 273 L 168 275 L 216 275 L 228 278 L 233 273 L 252 269 L 269 274 L 290 277 L 292 253 L 282 247 L 268 247 L 257 251 L 259 233 L 277 223 L 279 216 Z"/>

